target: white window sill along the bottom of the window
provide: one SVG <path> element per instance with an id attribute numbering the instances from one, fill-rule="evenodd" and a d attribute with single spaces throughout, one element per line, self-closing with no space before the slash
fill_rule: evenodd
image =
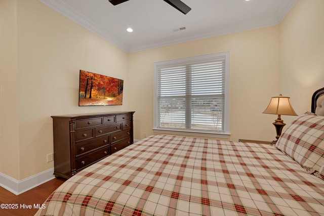
<path id="1" fill-rule="evenodd" d="M 167 128 L 153 128 L 156 133 L 169 133 L 178 135 L 195 135 L 195 136 L 206 136 L 206 137 L 216 137 L 216 138 L 229 138 L 230 133 L 226 132 L 211 132 L 211 131 L 192 131 L 192 130 L 177 130 L 177 129 L 167 129 Z"/>

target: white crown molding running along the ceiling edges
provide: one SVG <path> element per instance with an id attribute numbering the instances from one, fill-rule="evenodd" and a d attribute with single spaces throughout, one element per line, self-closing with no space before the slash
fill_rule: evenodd
<path id="1" fill-rule="evenodd" d="M 266 20 L 255 20 L 253 22 L 245 23 L 241 21 L 235 25 L 224 25 L 224 26 L 217 26 L 210 31 L 194 31 L 188 33 L 186 31 L 186 35 L 181 34 L 182 37 L 169 37 L 169 38 L 161 38 L 152 41 L 146 41 L 144 43 L 138 43 L 133 45 L 127 45 L 124 42 L 121 42 L 117 38 L 113 37 L 112 35 L 108 35 L 107 33 L 103 32 L 96 23 L 89 20 L 87 17 L 83 16 L 69 5 L 64 3 L 63 0 L 38 0 L 39 2 L 44 3 L 45 5 L 49 6 L 53 10 L 61 13 L 62 15 L 66 16 L 67 18 L 71 19 L 72 21 L 76 22 L 77 24 L 85 27 L 86 29 L 92 31 L 105 41 L 115 45 L 116 47 L 124 50 L 128 53 L 139 52 L 164 46 L 171 46 L 196 40 L 202 40 L 212 37 L 218 37 L 220 35 L 236 33 L 241 31 L 247 31 L 272 25 L 277 25 L 281 22 L 282 19 L 289 13 L 291 8 L 295 5 L 298 0 L 294 0 L 294 2 L 288 2 L 282 5 L 275 16 L 271 19 Z"/>

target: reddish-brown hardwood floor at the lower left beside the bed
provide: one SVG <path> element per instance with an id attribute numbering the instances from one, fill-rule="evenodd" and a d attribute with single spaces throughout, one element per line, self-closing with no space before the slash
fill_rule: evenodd
<path id="1" fill-rule="evenodd" d="M 36 188 L 33 188 L 25 193 L 22 193 L 18 196 L 7 191 L 6 189 L 0 187 L 0 204 L 18 204 L 18 209 L 2 209 L 0 208 L 0 215 L 34 215 L 38 208 L 34 208 L 34 204 L 42 206 L 44 201 L 50 196 L 50 194 L 57 189 L 65 179 L 63 178 L 54 178 L 51 181 L 44 183 Z M 24 205 L 25 204 L 25 205 Z M 23 206 L 30 206 L 31 208 L 23 208 Z M 28 206 L 28 207 L 29 207 Z"/>

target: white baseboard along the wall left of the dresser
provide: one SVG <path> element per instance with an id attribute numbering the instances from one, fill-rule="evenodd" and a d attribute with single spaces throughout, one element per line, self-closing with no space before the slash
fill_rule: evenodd
<path id="1" fill-rule="evenodd" d="M 0 186 L 15 195 L 19 195 L 52 180 L 55 178 L 53 173 L 54 168 L 51 168 L 18 181 L 15 178 L 0 172 Z"/>

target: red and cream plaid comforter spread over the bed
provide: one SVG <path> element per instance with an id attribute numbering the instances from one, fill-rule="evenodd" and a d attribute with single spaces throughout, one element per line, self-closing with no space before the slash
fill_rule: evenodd
<path id="1" fill-rule="evenodd" d="M 156 135 L 80 171 L 36 215 L 324 215 L 324 181 L 274 146 Z"/>

